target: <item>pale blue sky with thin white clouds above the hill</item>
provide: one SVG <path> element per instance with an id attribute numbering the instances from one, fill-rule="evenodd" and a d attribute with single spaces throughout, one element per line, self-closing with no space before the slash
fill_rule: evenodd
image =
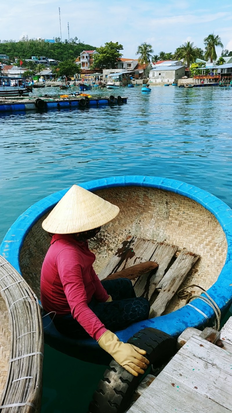
<path id="1" fill-rule="evenodd" d="M 232 50 L 230 0 L 11 0 L 1 1 L 0 39 L 18 40 L 77 36 L 99 47 L 105 42 L 123 45 L 123 57 L 136 58 L 138 45 L 150 43 L 154 55 L 174 52 L 187 40 L 204 48 L 203 39 L 218 34 L 224 49 Z M 221 49 L 217 50 L 218 57 Z"/>

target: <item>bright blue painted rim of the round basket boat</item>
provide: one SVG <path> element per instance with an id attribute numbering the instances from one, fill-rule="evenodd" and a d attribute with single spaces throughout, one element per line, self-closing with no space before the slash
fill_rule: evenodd
<path id="1" fill-rule="evenodd" d="M 225 265 L 222 268 L 218 280 L 207 290 L 211 298 L 216 301 L 221 310 L 226 310 L 232 301 L 232 209 L 225 202 L 221 201 L 209 192 L 195 187 L 179 180 L 169 178 L 152 177 L 152 176 L 116 176 L 91 180 L 78 184 L 83 188 L 96 191 L 117 186 L 141 186 L 157 188 L 160 190 L 171 191 L 183 195 L 201 204 L 209 210 L 220 223 L 227 240 L 227 257 Z M 4 256 L 9 263 L 21 274 L 19 266 L 19 255 L 23 241 L 33 225 L 52 209 L 57 202 L 63 197 L 69 188 L 55 192 L 34 205 L 29 207 L 9 228 L 0 245 L 0 255 Z M 180 335 L 187 327 L 198 327 L 206 324 L 206 318 L 214 318 L 213 309 L 200 299 L 195 299 L 192 304 L 199 309 L 197 311 L 188 305 L 173 311 L 164 316 L 152 318 L 150 320 L 134 323 L 126 330 L 117 332 L 118 337 L 124 342 L 135 332 L 142 328 L 157 328 L 172 336 Z M 202 313 L 201 313 L 202 312 Z M 97 345 L 97 343 L 96 343 Z"/>

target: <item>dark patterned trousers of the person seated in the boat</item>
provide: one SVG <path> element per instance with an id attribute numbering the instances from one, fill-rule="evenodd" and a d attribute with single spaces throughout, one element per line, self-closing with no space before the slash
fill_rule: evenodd
<path id="1" fill-rule="evenodd" d="M 146 320 L 150 311 L 150 304 L 143 297 L 136 297 L 132 282 L 127 278 L 102 281 L 102 285 L 112 300 L 108 303 L 99 303 L 94 297 L 89 308 L 96 314 L 110 331 L 124 330 L 137 321 Z M 73 318 L 71 314 L 54 318 L 56 329 L 72 338 L 88 337 L 88 333 Z"/>

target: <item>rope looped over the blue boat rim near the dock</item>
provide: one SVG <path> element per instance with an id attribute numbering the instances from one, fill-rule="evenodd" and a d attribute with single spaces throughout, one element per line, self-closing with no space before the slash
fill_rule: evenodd
<path id="1" fill-rule="evenodd" d="M 191 288 L 191 287 L 197 287 L 200 290 L 204 291 L 204 294 L 206 295 L 206 297 L 204 297 L 204 295 L 200 295 L 200 294 L 193 294 L 189 291 L 186 291 L 187 288 Z M 215 325 L 213 325 L 213 328 L 217 331 L 220 330 L 220 319 L 221 319 L 221 311 L 220 308 L 218 307 L 218 304 L 210 297 L 210 295 L 206 292 L 206 290 L 204 290 L 204 288 L 200 287 L 200 285 L 196 285 L 196 284 L 191 284 L 188 285 L 187 287 L 181 288 L 181 290 L 178 291 L 177 296 L 179 298 L 183 298 L 183 297 L 187 297 L 186 298 L 186 304 L 188 304 L 192 299 L 194 298 L 199 298 L 202 301 L 206 302 L 207 304 L 209 304 L 209 306 L 213 309 L 215 315 L 216 315 L 216 320 L 215 320 Z M 193 307 L 191 305 L 191 307 Z M 196 307 L 194 307 L 197 311 L 198 309 Z M 208 318 L 206 316 L 206 314 L 203 314 L 204 317 Z"/>

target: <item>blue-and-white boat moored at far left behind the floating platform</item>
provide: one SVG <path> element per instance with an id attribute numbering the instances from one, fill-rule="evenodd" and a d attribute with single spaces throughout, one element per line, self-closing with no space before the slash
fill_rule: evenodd
<path id="1" fill-rule="evenodd" d="M 0 97 L 28 96 L 32 92 L 32 85 L 23 78 L 0 76 Z"/>

